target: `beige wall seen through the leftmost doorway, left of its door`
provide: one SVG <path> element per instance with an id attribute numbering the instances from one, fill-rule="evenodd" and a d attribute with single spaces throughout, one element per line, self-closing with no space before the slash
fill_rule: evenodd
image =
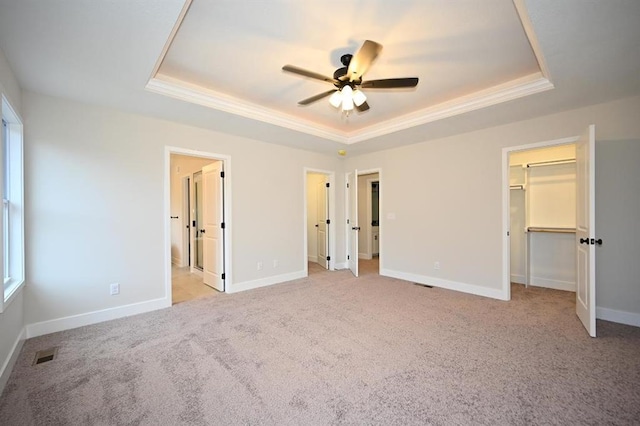
<path id="1" fill-rule="evenodd" d="M 171 155 L 171 204 L 170 215 L 178 217 L 171 220 L 171 263 L 181 267 L 184 255 L 183 231 L 189 224 L 189 218 L 183 212 L 184 178 L 202 170 L 208 164 L 215 161 L 210 158 L 188 157 L 184 155 Z M 192 201 L 193 202 L 193 201 Z"/>

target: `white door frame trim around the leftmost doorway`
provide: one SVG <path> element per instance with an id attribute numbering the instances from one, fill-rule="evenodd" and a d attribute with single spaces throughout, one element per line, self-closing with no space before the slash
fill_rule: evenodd
<path id="1" fill-rule="evenodd" d="M 176 146 L 164 147 L 164 282 L 165 282 L 165 298 L 168 305 L 172 304 L 172 290 L 171 290 L 171 154 L 186 155 L 189 157 L 200 157 L 211 160 L 222 161 L 224 170 L 224 180 L 222 186 L 224 188 L 224 292 L 227 292 L 229 287 L 233 285 L 233 271 L 231 269 L 231 254 L 232 250 L 232 221 L 231 221 L 231 156 L 226 154 L 218 154 L 206 151 L 197 151 L 193 149 L 180 148 Z"/>

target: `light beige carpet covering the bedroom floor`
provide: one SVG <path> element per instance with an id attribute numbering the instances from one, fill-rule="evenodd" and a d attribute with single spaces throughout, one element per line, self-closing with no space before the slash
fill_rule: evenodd
<path id="1" fill-rule="evenodd" d="M 574 297 L 348 271 L 217 294 L 28 340 L 0 424 L 638 424 L 640 329 L 589 338 Z"/>

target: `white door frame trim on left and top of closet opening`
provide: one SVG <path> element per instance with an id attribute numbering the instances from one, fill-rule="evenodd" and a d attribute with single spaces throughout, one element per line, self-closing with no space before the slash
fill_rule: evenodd
<path id="1" fill-rule="evenodd" d="M 535 142 L 525 145 L 516 145 L 502 148 L 502 288 L 500 289 L 502 300 L 511 300 L 511 239 L 507 235 L 510 231 L 510 202 L 511 191 L 509 189 L 509 154 L 517 151 L 529 151 L 538 148 L 568 145 L 575 143 L 579 136 L 571 136 L 562 139 L 553 139 L 543 142 Z"/>

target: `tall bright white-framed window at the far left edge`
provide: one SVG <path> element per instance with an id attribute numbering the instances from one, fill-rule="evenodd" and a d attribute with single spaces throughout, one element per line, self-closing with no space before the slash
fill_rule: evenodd
<path id="1" fill-rule="evenodd" d="M 0 312 L 24 284 L 24 179 L 22 123 L 2 97 L 2 269 L 3 297 Z"/>

